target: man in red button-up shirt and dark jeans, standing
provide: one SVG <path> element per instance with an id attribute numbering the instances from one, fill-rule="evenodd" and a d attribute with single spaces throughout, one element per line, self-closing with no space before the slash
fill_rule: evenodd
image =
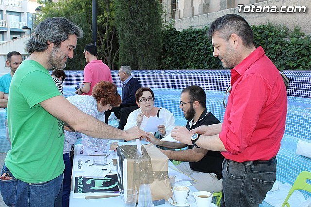
<path id="1" fill-rule="evenodd" d="M 222 152 L 223 207 L 258 207 L 276 180 L 276 155 L 285 130 L 286 87 L 262 47 L 254 46 L 253 32 L 241 16 L 216 19 L 209 35 L 213 55 L 223 67 L 234 67 L 224 121 L 191 132 L 176 127 L 171 135 L 182 143 Z"/>

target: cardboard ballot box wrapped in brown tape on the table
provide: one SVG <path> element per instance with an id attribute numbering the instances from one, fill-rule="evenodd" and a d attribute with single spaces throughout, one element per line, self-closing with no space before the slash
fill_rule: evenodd
<path id="1" fill-rule="evenodd" d="M 142 145 L 142 156 L 136 145 L 119 146 L 117 151 L 117 175 L 120 190 L 135 189 L 140 184 L 150 184 L 152 200 L 172 197 L 168 178 L 169 159 L 155 145 Z"/>

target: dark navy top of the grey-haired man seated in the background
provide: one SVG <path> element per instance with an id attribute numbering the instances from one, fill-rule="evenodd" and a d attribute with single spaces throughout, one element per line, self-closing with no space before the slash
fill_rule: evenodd
<path id="1" fill-rule="evenodd" d="M 137 106 L 135 100 L 136 91 L 141 88 L 139 81 L 132 77 L 125 86 L 122 87 L 121 107 Z"/>

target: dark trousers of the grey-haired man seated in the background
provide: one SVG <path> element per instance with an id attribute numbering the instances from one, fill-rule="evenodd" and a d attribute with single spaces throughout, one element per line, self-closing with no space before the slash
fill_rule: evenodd
<path id="1" fill-rule="evenodd" d="M 111 111 L 105 112 L 105 123 L 108 123 L 108 118 L 111 112 L 115 112 L 115 115 L 118 119 L 120 119 L 118 128 L 123 130 L 126 125 L 127 118 L 134 110 L 138 109 L 138 106 L 129 106 L 129 107 L 112 107 Z"/>

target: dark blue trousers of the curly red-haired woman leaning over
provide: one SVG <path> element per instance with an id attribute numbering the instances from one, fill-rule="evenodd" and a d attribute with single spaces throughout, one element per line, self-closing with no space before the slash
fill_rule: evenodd
<path id="1" fill-rule="evenodd" d="M 72 163 L 69 157 L 69 153 L 63 154 L 64 158 L 64 180 L 63 180 L 63 204 L 62 207 L 69 207 L 69 196 L 71 190 L 71 174 L 72 174 Z"/>

